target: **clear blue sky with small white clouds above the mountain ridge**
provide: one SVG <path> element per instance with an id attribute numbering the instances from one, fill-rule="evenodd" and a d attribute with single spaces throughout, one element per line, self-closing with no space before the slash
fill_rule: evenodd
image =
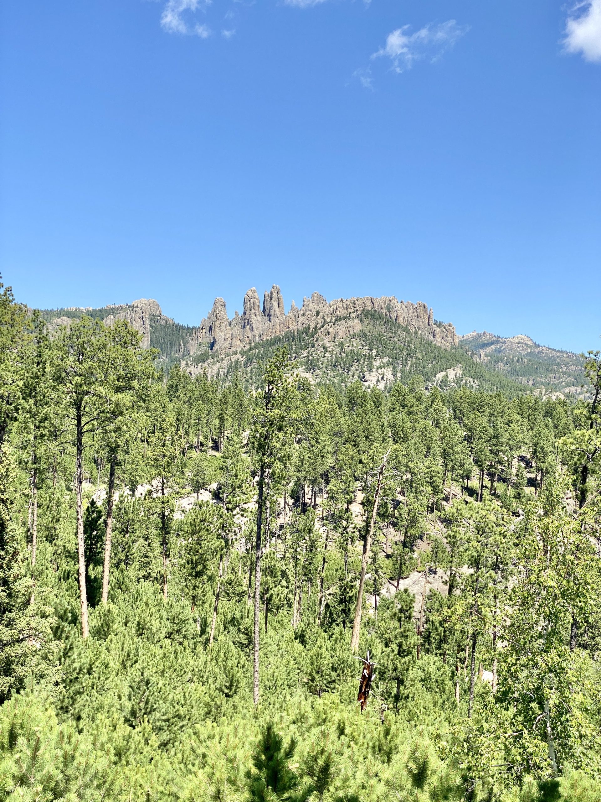
<path id="1" fill-rule="evenodd" d="M 5 0 L 0 269 L 32 306 L 393 294 L 601 334 L 601 0 Z"/>

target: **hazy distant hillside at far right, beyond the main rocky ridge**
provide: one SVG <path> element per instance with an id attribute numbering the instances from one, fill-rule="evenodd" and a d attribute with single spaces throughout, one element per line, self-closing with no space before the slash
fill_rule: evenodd
<path id="1" fill-rule="evenodd" d="M 583 395 L 583 358 L 578 354 L 539 346 L 524 334 L 498 337 L 474 331 L 459 339 L 479 363 L 516 382 L 544 387 L 547 394 L 561 391 L 563 395 Z"/>

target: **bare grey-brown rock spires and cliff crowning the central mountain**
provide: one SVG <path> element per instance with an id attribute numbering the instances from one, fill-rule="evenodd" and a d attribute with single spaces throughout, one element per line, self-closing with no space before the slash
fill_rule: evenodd
<path id="1" fill-rule="evenodd" d="M 224 354 L 240 350 L 253 342 L 261 342 L 287 331 L 318 326 L 325 338 L 333 341 L 356 334 L 361 329 L 361 314 L 374 312 L 394 322 L 407 326 L 409 330 L 423 334 L 443 347 L 455 346 L 458 338 L 450 323 L 435 323 L 432 310 L 425 303 L 413 304 L 397 298 L 339 298 L 327 302 L 323 295 L 313 293 L 305 298 L 300 309 L 292 301 L 288 314 L 284 311 L 284 300 L 280 287 L 274 284 L 265 292 L 263 306 L 259 294 L 252 287 L 244 295 L 242 314 L 236 312 L 228 318 L 223 298 L 216 298 L 212 310 L 198 329 L 192 332 L 188 350 L 194 353 L 204 344 L 212 351 Z"/>

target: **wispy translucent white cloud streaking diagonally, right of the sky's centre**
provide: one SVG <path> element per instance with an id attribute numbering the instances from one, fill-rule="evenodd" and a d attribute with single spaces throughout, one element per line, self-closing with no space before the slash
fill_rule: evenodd
<path id="1" fill-rule="evenodd" d="M 414 34 L 409 34 L 410 27 L 404 25 L 388 34 L 385 46 L 374 53 L 372 59 L 388 56 L 393 63 L 393 70 L 403 72 L 421 59 L 437 61 L 469 30 L 467 26 L 458 25 L 454 19 L 440 25 L 425 25 Z"/>

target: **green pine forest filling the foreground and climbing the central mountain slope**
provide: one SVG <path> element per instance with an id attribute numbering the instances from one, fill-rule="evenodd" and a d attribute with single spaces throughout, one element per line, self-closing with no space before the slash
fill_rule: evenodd
<path id="1" fill-rule="evenodd" d="M 601 798 L 601 354 L 361 324 L 192 376 L 2 290 L 3 799 Z"/>

